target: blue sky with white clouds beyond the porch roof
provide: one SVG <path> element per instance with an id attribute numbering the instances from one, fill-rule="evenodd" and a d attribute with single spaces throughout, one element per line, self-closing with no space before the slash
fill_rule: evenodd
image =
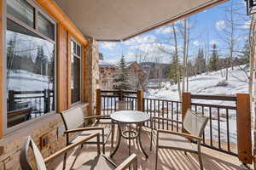
<path id="1" fill-rule="evenodd" d="M 231 0 L 190 16 L 189 59 L 195 59 L 199 48 L 203 48 L 206 54 L 211 54 L 213 43 L 217 45 L 218 54 L 221 57 L 227 56 L 228 50 L 225 40 L 228 38 L 226 31 L 230 31 L 228 11 L 230 11 L 231 6 L 235 11 L 234 18 L 236 18 L 236 50 L 239 51 L 244 47 L 250 26 L 249 17 L 246 15 L 246 5 L 244 0 Z M 182 23 L 183 20 L 175 22 L 176 28 Z M 170 63 L 174 50 L 172 37 L 172 26 L 167 25 L 125 42 L 99 42 L 99 52 L 103 54 L 105 61 L 112 64 L 118 63 L 122 55 L 125 56 L 126 61 Z M 181 54 L 182 38 L 178 36 L 177 41 L 178 50 Z M 182 58 L 182 56 L 179 57 Z"/>

